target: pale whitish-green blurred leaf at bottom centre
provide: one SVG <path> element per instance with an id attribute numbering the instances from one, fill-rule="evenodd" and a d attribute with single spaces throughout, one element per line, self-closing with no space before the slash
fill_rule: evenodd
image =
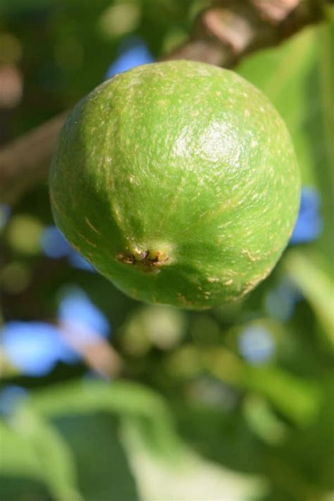
<path id="1" fill-rule="evenodd" d="M 124 421 L 122 432 L 144 501 L 245 501 L 259 499 L 268 490 L 264 477 L 240 474 L 209 462 L 185 445 L 177 462 L 157 459 L 132 419 Z"/>

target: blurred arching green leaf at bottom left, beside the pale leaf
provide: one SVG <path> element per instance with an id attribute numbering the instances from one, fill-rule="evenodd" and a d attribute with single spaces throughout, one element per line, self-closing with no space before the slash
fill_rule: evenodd
<path id="1" fill-rule="evenodd" d="M 168 407 L 156 392 L 136 383 L 62 384 L 35 392 L 19 407 L 16 433 L 30 441 L 41 478 L 57 501 L 137 499 L 110 414 L 131 417 L 151 452 L 176 457 L 180 440 Z"/>

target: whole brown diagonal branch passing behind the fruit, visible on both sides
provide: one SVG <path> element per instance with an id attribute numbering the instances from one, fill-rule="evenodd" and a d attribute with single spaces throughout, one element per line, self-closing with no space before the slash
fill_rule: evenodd
<path id="1" fill-rule="evenodd" d="M 330 0 L 214 0 L 194 23 L 192 37 L 164 59 L 190 59 L 230 68 L 245 55 L 279 44 L 323 18 Z M 0 151 L 0 201 L 14 204 L 45 180 L 66 113 Z"/>

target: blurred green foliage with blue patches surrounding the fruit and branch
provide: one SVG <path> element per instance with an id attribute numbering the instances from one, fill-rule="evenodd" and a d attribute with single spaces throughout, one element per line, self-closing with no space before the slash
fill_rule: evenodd
<path id="1" fill-rule="evenodd" d="M 207 5 L 0 0 L 1 142 L 168 53 Z M 135 302 L 68 246 L 47 185 L 0 204 L 1 501 L 334 499 L 333 35 L 235 68 L 285 118 L 304 186 L 242 303 Z"/>

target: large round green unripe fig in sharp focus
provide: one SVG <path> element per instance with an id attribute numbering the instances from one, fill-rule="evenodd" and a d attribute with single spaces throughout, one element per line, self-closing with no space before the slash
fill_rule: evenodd
<path id="1" fill-rule="evenodd" d="M 58 228 L 146 302 L 204 309 L 271 272 L 299 205 L 283 120 L 229 70 L 168 61 L 116 75 L 68 117 L 50 173 Z"/>

